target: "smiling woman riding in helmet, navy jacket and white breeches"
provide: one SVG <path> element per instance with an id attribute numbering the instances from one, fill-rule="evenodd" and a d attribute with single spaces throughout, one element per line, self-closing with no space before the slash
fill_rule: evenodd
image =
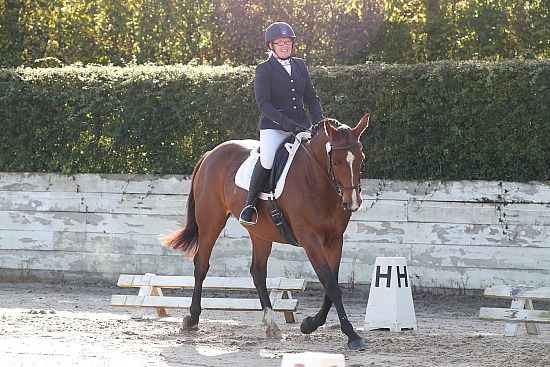
<path id="1" fill-rule="evenodd" d="M 265 31 L 269 57 L 256 67 L 254 94 L 262 115 L 260 130 L 260 159 L 250 180 L 248 197 L 239 222 L 256 225 L 256 201 L 266 185 L 273 167 L 277 148 L 288 137 L 311 128 L 304 103 L 315 123 L 323 120 L 323 109 L 311 83 L 304 60 L 291 57 L 296 36 L 285 22 L 275 22 Z"/>

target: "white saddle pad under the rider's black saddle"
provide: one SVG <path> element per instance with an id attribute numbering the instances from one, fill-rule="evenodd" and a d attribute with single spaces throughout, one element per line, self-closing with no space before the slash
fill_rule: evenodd
<path id="1" fill-rule="evenodd" d="M 285 149 L 288 151 L 288 160 L 286 161 L 285 167 L 283 169 L 283 172 L 281 173 L 281 177 L 279 178 L 279 181 L 277 181 L 277 186 L 275 186 L 275 192 L 270 194 L 262 192 L 260 194 L 261 200 L 267 200 L 268 198 L 277 199 L 279 196 L 281 196 L 281 194 L 283 193 L 283 188 L 285 186 L 288 169 L 290 168 L 290 165 L 292 164 L 294 156 L 298 151 L 298 148 L 300 147 L 300 142 L 303 139 L 309 139 L 310 137 L 311 137 L 311 134 L 309 132 L 301 132 L 296 135 L 296 139 L 294 140 L 293 143 L 285 144 Z M 254 170 L 256 161 L 259 158 L 260 158 L 260 153 L 258 152 L 258 149 L 253 149 L 250 152 L 250 156 L 243 162 L 243 164 L 241 164 L 241 166 L 237 170 L 237 174 L 235 175 L 235 185 L 237 185 L 241 189 L 245 189 L 248 191 L 248 187 L 250 186 L 250 178 L 252 177 L 252 171 Z"/>

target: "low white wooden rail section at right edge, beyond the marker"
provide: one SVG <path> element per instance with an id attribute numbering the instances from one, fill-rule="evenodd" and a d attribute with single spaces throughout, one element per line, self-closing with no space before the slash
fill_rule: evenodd
<path id="1" fill-rule="evenodd" d="M 550 287 L 493 286 L 485 289 L 484 296 L 512 300 L 509 309 L 481 307 L 479 310 L 481 320 L 506 321 L 505 336 L 515 336 L 521 323 L 531 335 L 540 334 L 538 324 L 550 324 L 550 311 L 533 307 L 533 300 L 550 300 Z"/>

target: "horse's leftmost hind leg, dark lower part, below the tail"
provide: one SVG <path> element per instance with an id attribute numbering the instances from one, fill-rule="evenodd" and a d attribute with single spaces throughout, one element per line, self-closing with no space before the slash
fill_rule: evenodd
<path id="1" fill-rule="evenodd" d="M 212 212 L 214 212 L 213 209 Z M 214 248 L 220 232 L 225 227 L 225 222 L 228 218 L 228 216 L 225 216 L 223 219 L 220 217 L 216 220 L 214 217 L 215 215 L 211 215 L 210 221 L 200 222 L 197 220 L 197 223 L 207 223 L 208 225 L 201 226 L 199 224 L 198 251 L 193 258 L 193 263 L 195 265 L 195 286 L 193 289 L 191 306 L 189 307 L 189 316 L 183 319 L 183 330 L 198 329 L 199 316 L 201 314 L 202 284 L 206 278 L 206 273 L 208 273 L 208 269 L 210 268 L 210 256 L 212 255 L 212 249 Z"/>

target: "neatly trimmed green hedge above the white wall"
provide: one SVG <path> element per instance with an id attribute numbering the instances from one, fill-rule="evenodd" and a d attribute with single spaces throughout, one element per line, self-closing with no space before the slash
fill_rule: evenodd
<path id="1" fill-rule="evenodd" d="M 325 115 L 365 112 L 363 175 L 550 179 L 550 61 L 315 68 Z M 137 65 L 0 70 L 0 171 L 190 173 L 257 138 L 254 69 Z"/>

